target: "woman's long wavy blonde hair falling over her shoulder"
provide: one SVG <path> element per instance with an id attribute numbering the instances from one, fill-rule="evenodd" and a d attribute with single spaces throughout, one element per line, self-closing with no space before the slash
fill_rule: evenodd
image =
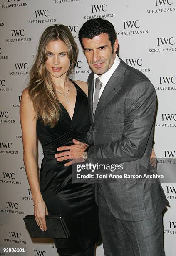
<path id="1" fill-rule="evenodd" d="M 30 71 L 28 86 L 28 94 L 32 100 L 36 118 L 42 120 L 44 125 L 50 125 L 51 128 L 59 120 L 60 106 L 51 76 L 45 68 L 45 62 L 47 61 L 47 44 L 58 39 L 63 41 L 68 49 L 67 56 L 70 60 L 70 67 L 67 77 L 72 73 L 77 62 L 77 44 L 69 28 L 62 24 L 55 24 L 47 27 L 40 37 L 35 63 Z"/>

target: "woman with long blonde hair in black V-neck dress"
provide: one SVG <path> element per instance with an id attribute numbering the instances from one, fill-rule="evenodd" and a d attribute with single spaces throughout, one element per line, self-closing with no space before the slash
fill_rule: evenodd
<path id="1" fill-rule="evenodd" d="M 71 145 L 72 139 L 87 143 L 90 127 L 87 84 L 69 75 L 77 61 L 77 45 L 64 25 L 43 32 L 28 88 L 22 92 L 20 121 L 26 174 L 37 225 L 46 230 L 45 215 L 62 215 L 70 232 L 55 239 L 60 255 L 94 256 L 100 240 L 97 205 L 91 184 L 72 184 L 71 167 L 57 162 L 56 148 Z M 44 158 L 37 175 L 39 138 Z"/>

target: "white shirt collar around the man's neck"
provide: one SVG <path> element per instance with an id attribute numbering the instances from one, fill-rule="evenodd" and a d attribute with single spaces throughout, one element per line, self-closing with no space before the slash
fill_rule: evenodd
<path id="1" fill-rule="evenodd" d="M 107 82 L 109 81 L 110 77 L 112 76 L 112 74 L 114 73 L 114 71 L 117 69 L 117 67 L 120 64 L 120 59 L 119 57 L 116 55 L 115 59 L 114 59 L 114 63 L 112 64 L 112 67 L 104 74 L 102 74 L 101 77 L 99 77 L 99 75 L 94 74 L 94 84 L 95 84 L 95 79 L 97 77 L 99 77 L 100 81 L 102 82 L 102 84 L 106 85 Z"/>

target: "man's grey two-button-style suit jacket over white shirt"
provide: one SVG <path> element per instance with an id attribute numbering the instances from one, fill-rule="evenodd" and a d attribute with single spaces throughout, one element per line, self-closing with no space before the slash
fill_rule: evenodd
<path id="1" fill-rule="evenodd" d="M 94 73 L 88 77 L 91 129 L 88 158 L 115 158 L 124 162 L 116 174 L 149 174 L 156 110 L 156 92 L 149 79 L 138 70 L 120 61 L 99 99 L 95 115 L 92 100 Z M 159 179 L 117 179 L 96 184 L 112 214 L 127 221 L 146 220 L 161 214 L 168 201 Z"/>

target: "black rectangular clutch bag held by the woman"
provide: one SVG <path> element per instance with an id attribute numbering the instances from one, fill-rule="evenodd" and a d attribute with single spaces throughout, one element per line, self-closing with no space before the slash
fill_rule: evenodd
<path id="1" fill-rule="evenodd" d="M 42 231 L 35 221 L 34 215 L 23 219 L 32 238 L 68 238 L 69 230 L 61 216 L 45 215 L 47 230 Z"/>

